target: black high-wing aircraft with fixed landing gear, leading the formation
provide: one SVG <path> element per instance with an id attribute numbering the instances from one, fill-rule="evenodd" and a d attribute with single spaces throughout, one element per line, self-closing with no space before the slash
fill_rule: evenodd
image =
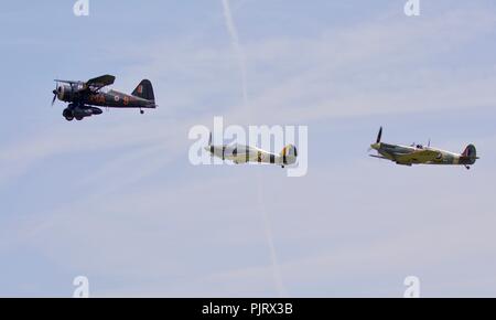
<path id="1" fill-rule="evenodd" d="M 100 115 L 103 111 L 98 107 L 107 108 L 137 108 L 143 114 L 145 108 L 155 108 L 155 97 L 151 82 L 143 79 L 131 95 L 116 90 L 101 90 L 104 87 L 112 85 L 116 77 L 103 75 L 87 82 L 55 79 L 56 87 L 53 90 L 55 99 L 68 103 L 62 115 L 67 121 L 83 120 L 85 117 Z"/>

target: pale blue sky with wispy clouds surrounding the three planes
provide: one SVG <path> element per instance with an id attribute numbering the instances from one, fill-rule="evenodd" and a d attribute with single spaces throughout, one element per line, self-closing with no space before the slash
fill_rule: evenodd
<path id="1" fill-rule="evenodd" d="M 0 10 L 0 297 L 496 296 L 496 3 L 9 1 Z M 228 11 L 226 11 L 226 3 Z M 227 12 L 227 14 L 226 14 Z M 54 78 L 153 83 L 67 122 Z M 193 126 L 309 128 L 309 171 L 192 166 Z M 472 168 L 398 167 L 388 142 Z"/>

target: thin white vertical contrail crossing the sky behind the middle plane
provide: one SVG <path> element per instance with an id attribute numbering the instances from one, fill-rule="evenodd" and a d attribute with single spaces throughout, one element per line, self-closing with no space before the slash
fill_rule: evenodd
<path id="1" fill-rule="evenodd" d="M 226 20 L 227 31 L 229 32 L 233 47 L 236 52 L 239 62 L 239 68 L 241 71 L 241 86 L 242 86 L 242 100 L 245 103 L 245 107 L 248 108 L 249 99 L 248 99 L 248 82 L 247 82 L 247 68 L 246 68 L 246 56 L 242 51 L 241 44 L 239 42 L 238 31 L 236 29 L 236 24 L 234 23 L 233 13 L 229 7 L 229 0 L 222 0 L 224 8 L 224 18 Z M 263 201 L 263 183 L 261 180 L 260 171 L 258 171 L 258 205 L 260 207 L 260 212 L 262 213 L 263 220 L 263 228 L 266 233 L 267 244 L 270 250 L 270 259 L 272 264 L 272 273 L 276 282 L 276 288 L 278 295 L 280 297 L 287 297 L 287 291 L 284 289 L 284 285 L 282 282 L 281 270 L 279 268 L 278 256 L 276 253 L 276 245 L 273 243 L 272 227 L 270 225 L 270 218 L 266 211 L 265 201 Z"/>

